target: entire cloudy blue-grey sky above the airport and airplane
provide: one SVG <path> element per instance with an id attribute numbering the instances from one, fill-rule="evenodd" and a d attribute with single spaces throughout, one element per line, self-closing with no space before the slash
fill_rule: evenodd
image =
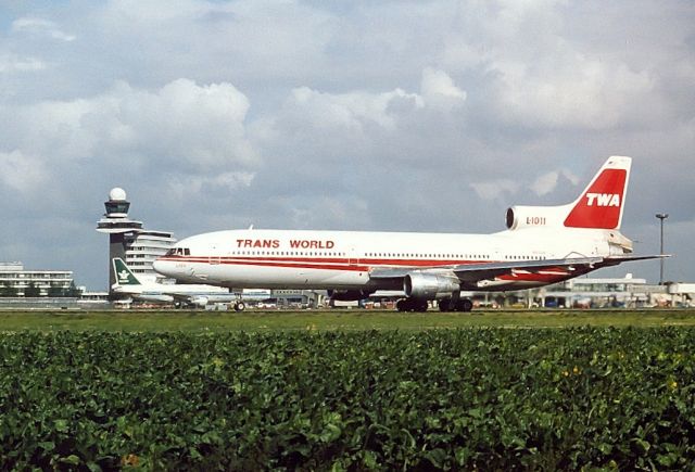
<path id="1" fill-rule="evenodd" d="M 617 154 L 695 281 L 694 85 L 690 0 L 0 0 L 0 260 L 105 290 L 113 187 L 179 239 L 493 232 Z"/>

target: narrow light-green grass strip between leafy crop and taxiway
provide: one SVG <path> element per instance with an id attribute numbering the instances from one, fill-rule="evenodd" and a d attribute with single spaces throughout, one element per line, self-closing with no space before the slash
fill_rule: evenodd
<path id="1" fill-rule="evenodd" d="M 490 310 L 470 314 L 400 314 L 386 310 L 204 311 L 81 310 L 0 311 L 0 331 L 274 331 L 274 330 L 424 330 L 437 328 L 580 326 L 695 326 L 695 309 L 644 310 Z"/>

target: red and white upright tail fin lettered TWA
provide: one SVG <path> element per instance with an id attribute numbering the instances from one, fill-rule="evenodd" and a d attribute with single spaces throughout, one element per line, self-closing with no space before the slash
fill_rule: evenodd
<path id="1" fill-rule="evenodd" d="M 609 157 L 574 202 L 572 209 L 565 218 L 565 226 L 570 228 L 620 228 L 631 164 L 630 157 Z"/>

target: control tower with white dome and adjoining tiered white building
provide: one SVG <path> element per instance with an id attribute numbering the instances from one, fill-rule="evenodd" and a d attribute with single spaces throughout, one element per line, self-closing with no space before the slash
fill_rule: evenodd
<path id="1" fill-rule="evenodd" d="M 141 281 L 154 281 L 156 272 L 152 263 L 164 255 L 176 243 L 176 239 L 167 231 L 146 230 L 142 221 L 128 218 L 130 202 L 121 188 L 109 192 L 104 207 L 106 213 L 97 222 L 97 231 L 109 234 L 109 293 L 116 283 L 111 264 L 115 257 L 125 260 Z"/>

